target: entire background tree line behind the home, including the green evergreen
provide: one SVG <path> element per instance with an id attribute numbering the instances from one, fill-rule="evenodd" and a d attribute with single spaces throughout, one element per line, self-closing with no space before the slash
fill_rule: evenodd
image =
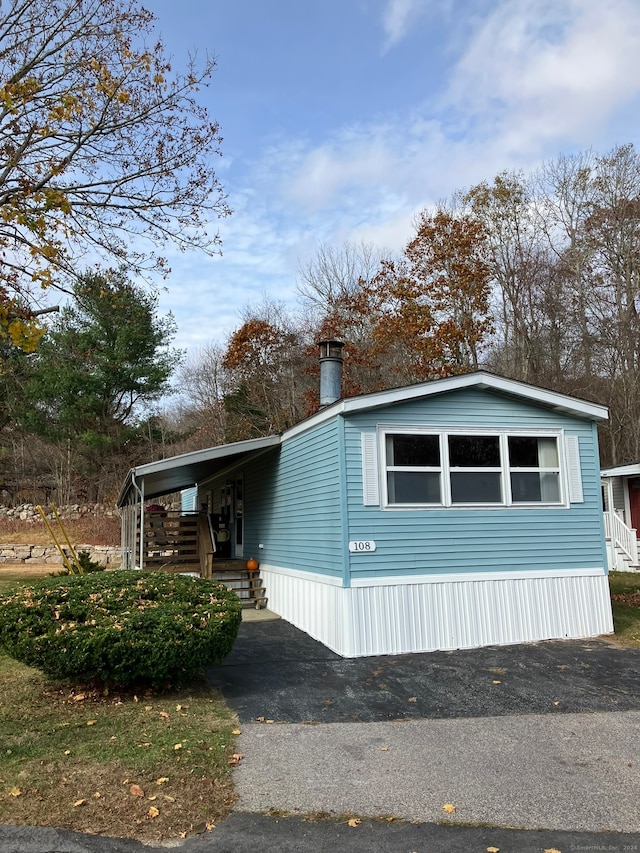
<path id="1" fill-rule="evenodd" d="M 71 291 L 37 346 L 5 339 L 2 473 L 21 496 L 113 500 L 130 465 L 286 429 L 317 408 L 327 337 L 345 342 L 345 396 L 485 368 L 607 405 L 603 463 L 640 459 L 632 145 L 460 190 L 415 218 L 397 255 L 320 246 L 295 310 L 265 298 L 186 361 L 123 268 Z"/>

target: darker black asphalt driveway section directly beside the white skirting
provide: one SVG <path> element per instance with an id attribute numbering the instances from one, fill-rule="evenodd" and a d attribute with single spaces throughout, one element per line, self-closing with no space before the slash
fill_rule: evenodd
<path id="1" fill-rule="evenodd" d="M 243 622 L 208 676 L 245 723 L 640 710 L 640 649 L 602 640 L 345 659 L 284 620 Z"/>

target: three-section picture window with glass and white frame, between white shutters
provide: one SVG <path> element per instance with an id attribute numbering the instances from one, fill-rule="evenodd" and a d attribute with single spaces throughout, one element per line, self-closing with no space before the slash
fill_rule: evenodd
<path id="1" fill-rule="evenodd" d="M 383 430 L 390 507 L 562 504 L 559 433 Z"/>

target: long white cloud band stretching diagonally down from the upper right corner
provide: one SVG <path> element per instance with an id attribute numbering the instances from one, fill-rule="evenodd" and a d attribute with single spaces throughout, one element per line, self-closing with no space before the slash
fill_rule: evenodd
<path id="1" fill-rule="evenodd" d="M 400 22 L 412 7 L 398 0 L 388 12 Z M 598 146 L 616 110 L 640 95 L 639 72 L 635 0 L 502 0 L 476 20 L 437 102 L 288 146 L 273 160 L 283 201 L 306 215 L 349 210 L 357 229 L 358 207 L 393 196 L 415 208 L 566 146 Z M 605 144 L 632 138 L 638 120 L 628 126 Z"/>

